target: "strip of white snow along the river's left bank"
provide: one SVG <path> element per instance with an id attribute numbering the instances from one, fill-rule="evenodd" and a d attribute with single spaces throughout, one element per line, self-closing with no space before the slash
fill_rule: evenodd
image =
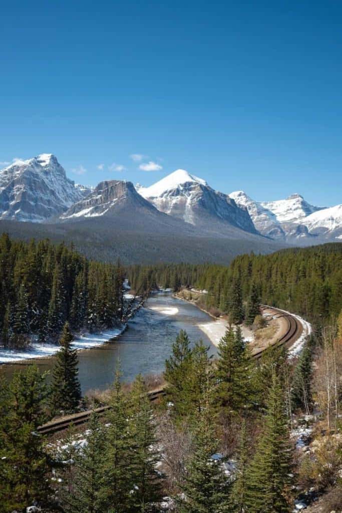
<path id="1" fill-rule="evenodd" d="M 126 325 L 120 328 L 106 329 L 100 333 L 84 333 L 76 337 L 72 343 L 75 349 L 91 349 L 115 339 L 126 329 Z M 0 349 L 0 363 L 15 363 L 33 358 L 46 358 L 53 356 L 59 349 L 58 344 L 39 344 L 33 342 L 27 349 Z"/>

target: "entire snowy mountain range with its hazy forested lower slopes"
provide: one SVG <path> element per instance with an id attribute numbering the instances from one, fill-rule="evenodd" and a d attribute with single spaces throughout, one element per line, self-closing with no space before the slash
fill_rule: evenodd
<path id="1" fill-rule="evenodd" d="M 228 262 L 251 250 L 342 240 L 342 205 L 315 207 L 299 194 L 260 203 L 182 169 L 150 187 L 108 180 L 93 189 L 44 153 L 0 171 L 0 230 L 73 241 L 102 260 Z"/>

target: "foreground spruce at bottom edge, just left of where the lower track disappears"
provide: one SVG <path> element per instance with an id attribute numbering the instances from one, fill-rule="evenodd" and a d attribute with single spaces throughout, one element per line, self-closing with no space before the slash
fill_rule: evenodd
<path id="1" fill-rule="evenodd" d="M 142 376 L 130 393 L 130 437 L 133 441 L 132 477 L 134 492 L 127 513 L 145 513 L 161 498 L 160 478 L 155 465 L 160 458 L 155 436 L 155 420 Z"/>

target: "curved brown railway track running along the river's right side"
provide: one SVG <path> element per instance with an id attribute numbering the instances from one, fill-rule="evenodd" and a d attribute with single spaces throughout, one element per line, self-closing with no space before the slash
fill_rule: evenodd
<path id="1" fill-rule="evenodd" d="M 287 320 L 288 326 L 286 333 L 280 339 L 276 340 L 272 345 L 290 347 L 299 338 L 301 331 L 303 330 L 303 327 L 299 321 L 293 315 L 285 312 L 284 310 L 279 310 L 278 308 L 269 307 L 267 305 L 261 305 L 261 308 L 264 311 L 270 310 L 273 312 L 273 319 L 283 317 Z M 265 349 L 266 347 L 253 352 L 253 358 L 261 358 L 261 355 Z M 165 396 L 165 393 L 165 388 L 161 387 L 159 389 L 148 392 L 148 396 L 150 401 L 156 402 Z M 43 426 L 39 426 L 37 432 L 41 435 L 52 435 L 58 431 L 64 431 L 71 424 L 74 426 L 85 424 L 89 421 L 89 418 L 93 412 L 98 413 L 99 415 L 104 415 L 108 409 L 110 409 L 110 406 L 102 406 L 95 408 L 94 410 L 87 410 L 83 411 L 82 413 L 74 413 L 73 415 L 69 415 L 67 417 L 48 422 Z"/>

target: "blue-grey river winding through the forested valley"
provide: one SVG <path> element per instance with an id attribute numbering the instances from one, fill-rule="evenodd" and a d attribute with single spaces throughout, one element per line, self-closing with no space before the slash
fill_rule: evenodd
<path id="1" fill-rule="evenodd" d="M 192 343 L 202 339 L 216 347 L 197 324 L 212 323 L 212 318 L 185 301 L 172 297 L 169 292 L 154 293 L 128 323 L 128 329 L 116 340 L 99 347 L 79 351 L 79 380 L 82 392 L 108 388 L 114 376 L 117 359 L 120 359 L 123 381 L 129 382 L 138 373 L 159 374 L 164 370 L 172 343 L 180 329 L 185 329 Z M 34 362 L 42 371 L 51 370 L 54 357 L 26 360 L 0 366 L 0 373 L 11 378 L 17 369 Z"/>

